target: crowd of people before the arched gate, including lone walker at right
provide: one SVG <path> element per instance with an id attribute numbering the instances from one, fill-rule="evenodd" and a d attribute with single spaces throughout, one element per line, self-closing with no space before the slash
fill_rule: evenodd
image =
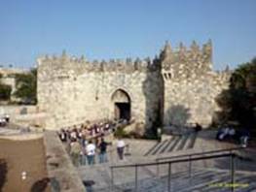
<path id="1" fill-rule="evenodd" d="M 58 133 L 59 139 L 66 144 L 67 150 L 75 166 L 93 165 L 96 162 L 108 161 L 108 145 L 104 136 L 115 130 L 114 122 L 98 122 L 82 125 L 80 128 L 73 127 L 61 129 Z M 118 140 L 117 153 L 121 160 L 124 159 L 125 142 Z M 95 157 L 98 157 L 96 160 Z"/>

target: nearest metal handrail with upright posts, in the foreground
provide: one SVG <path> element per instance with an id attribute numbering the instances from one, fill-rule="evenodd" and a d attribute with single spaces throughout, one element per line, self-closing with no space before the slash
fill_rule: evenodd
<path id="1" fill-rule="evenodd" d="M 199 161 L 199 160 L 205 160 L 205 159 L 215 159 L 215 158 L 221 158 L 221 157 L 231 157 L 231 183 L 232 183 L 232 191 L 234 191 L 234 183 L 235 183 L 235 157 L 237 154 L 235 152 L 229 152 L 229 153 L 222 153 L 222 154 L 215 154 L 215 155 L 209 155 L 209 156 L 201 156 L 201 157 L 189 157 L 184 159 L 178 159 L 178 160 L 169 160 L 165 162 L 153 162 L 153 163 L 142 163 L 142 164 L 128 164 L 128 165 L 119 165 L 119 166 L 110 166 L 111 169 L 111 188 L 114 189 L 114 169 L 119 168 L 135 168 L 135 191 L 137 191 L 137 180 L 138 180 L 138 167 L 145 167 L 145 166 L 159 166 L 159 165 L 168 165 L 168 192 L 170 192 L 170 175 L 171 175 L 171 165 L 175 163 L 182 163 L 182 162 L 189 162 L 189 176 L 191 177 L 191 162 L 192 161 Z"/>

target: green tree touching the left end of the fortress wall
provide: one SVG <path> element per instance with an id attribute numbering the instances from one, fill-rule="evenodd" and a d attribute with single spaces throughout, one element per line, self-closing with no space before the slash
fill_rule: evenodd
<path id="1" fill-rule="evenodd" d="M 32 69 L 27 74 L 16 75 L 16 92 L 14 95 L 22 102 L 36 104 L 37 70 Z"/>

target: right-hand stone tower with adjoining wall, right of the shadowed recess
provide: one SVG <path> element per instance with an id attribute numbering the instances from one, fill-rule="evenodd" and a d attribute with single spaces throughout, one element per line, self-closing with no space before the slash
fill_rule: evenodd
<path id="1" fill-rule="evenodd" d="M 165 125 L 209 125 L 219 110 L 215 98 L 228 88 L 230 79 L 229 71 L 212 70 L 211 41 L 202 48 L 196 42 L 190 49 L 180 44 L 177 51 L 166 44 L 160 57 L 165 81 Z"/>

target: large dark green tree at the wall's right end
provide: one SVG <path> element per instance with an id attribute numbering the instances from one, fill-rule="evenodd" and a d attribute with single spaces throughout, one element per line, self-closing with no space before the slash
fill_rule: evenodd
<path id="1" fill-rule="evenodd" d="M 230 87 L 217 98 L 224 121 L 238 121 L 252 129 L 256 119 L 256 58 L 238 66 L 230 79 Z M 254 127 L 255 128 L 255 127 Z"/>

